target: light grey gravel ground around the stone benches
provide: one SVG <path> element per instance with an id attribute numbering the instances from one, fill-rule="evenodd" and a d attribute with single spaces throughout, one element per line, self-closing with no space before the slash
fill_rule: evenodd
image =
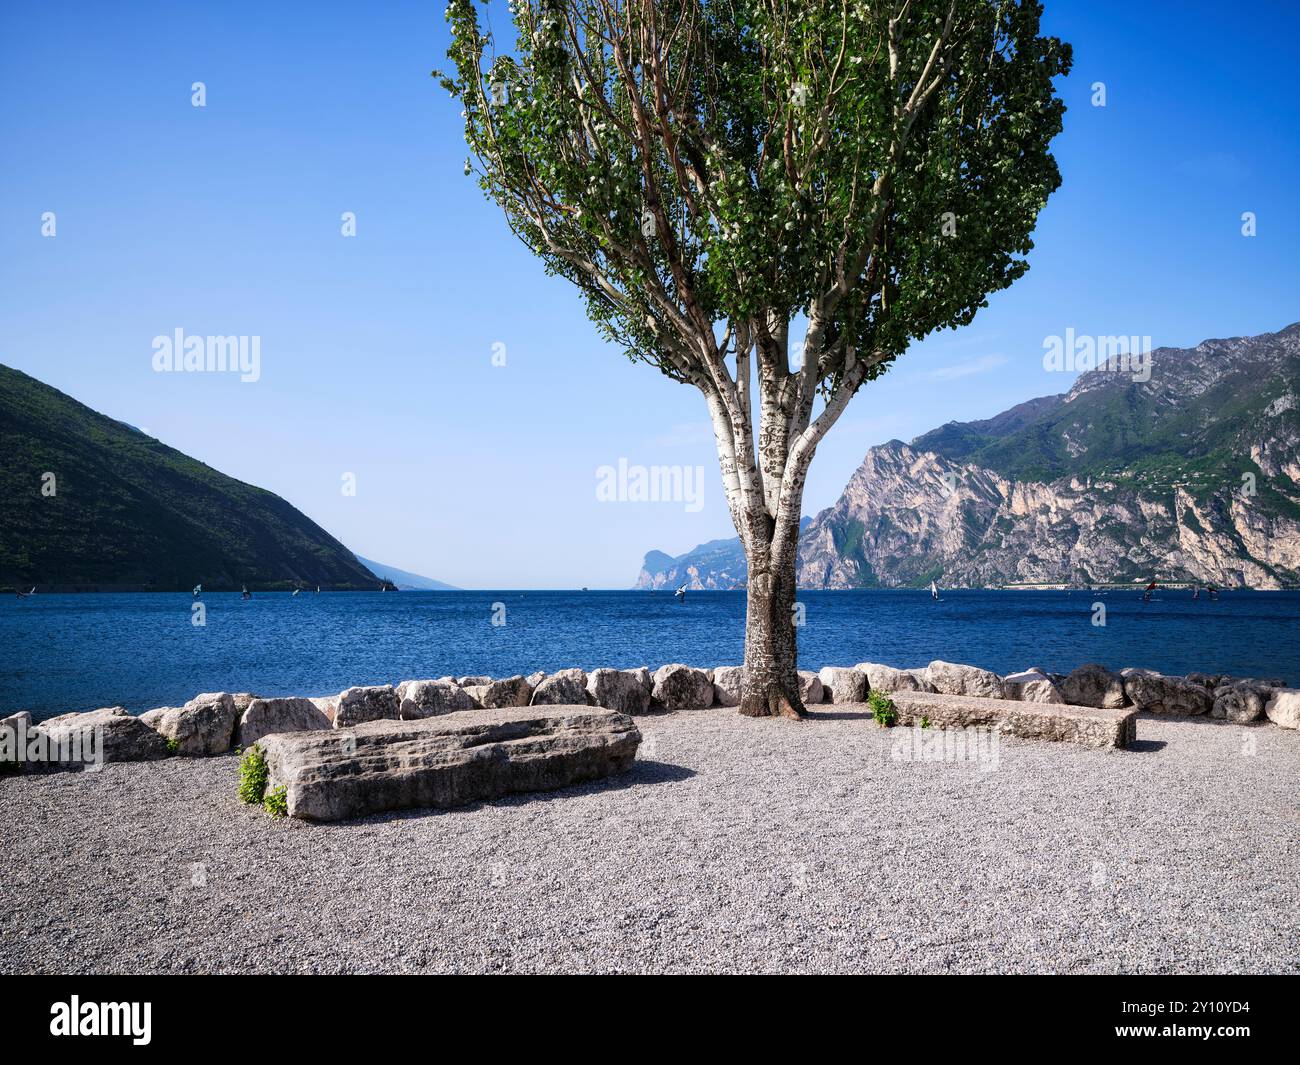
<path id="1" fill-rule="evenodd" d="M 616 782 L 329 826 L 242 806 L 233 756 L 0 779 L 0 971 L 1300 969 L 1300 733 L 980 771 L 853 707 L 641 727 Z"/>

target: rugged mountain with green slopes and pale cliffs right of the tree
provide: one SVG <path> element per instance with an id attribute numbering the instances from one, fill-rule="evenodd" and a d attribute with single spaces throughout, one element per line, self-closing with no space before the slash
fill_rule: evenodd
<path id="1" fill-rule="evenodd" d="M 1300 583 L 1300 322 L 1149 369 L 872 447 L 805 527 L 800 585 Z"/>

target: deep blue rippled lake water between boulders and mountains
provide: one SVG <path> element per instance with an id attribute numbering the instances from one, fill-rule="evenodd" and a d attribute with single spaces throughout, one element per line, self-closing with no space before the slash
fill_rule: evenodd
<path id="1" fill-rule="evenodd" d="M 803 668 L 933 658 L 998 672 L 1083 662 L 1300 683 L 1300 592 L 805 592 Z M 1106 606 L 1095 625 L 1093 603 Z M 333 694 L 446 674 L 738 664 L 742 592 L 398 592 L 0 599 L 0 709 L 139 713 L 198 692 Z M 494 625 L 494 603 L 504 625 Z"/>

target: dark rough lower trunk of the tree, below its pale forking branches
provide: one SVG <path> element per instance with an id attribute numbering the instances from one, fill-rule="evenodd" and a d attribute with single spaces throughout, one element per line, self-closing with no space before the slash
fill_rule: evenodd
<path id="1" fill-rule="evenodd" d="M 740 713 L 749 718 L 803 718 L 800 698 L 798 644 L 794 629 L 796 542 L 798 524 L 789 532 L 789 550 L 774 558 L 772 523 L 755 531 L 749 559 L 745 603 L 745 679 Z"/>

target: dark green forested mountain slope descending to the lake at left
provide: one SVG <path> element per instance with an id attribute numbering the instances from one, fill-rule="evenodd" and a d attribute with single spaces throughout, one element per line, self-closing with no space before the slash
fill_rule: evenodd
<path id="1" fill-rule="evenodd" d="M 55 589 L 373 589 L 278 495 L 0 367 L 0 584 Z"/>

